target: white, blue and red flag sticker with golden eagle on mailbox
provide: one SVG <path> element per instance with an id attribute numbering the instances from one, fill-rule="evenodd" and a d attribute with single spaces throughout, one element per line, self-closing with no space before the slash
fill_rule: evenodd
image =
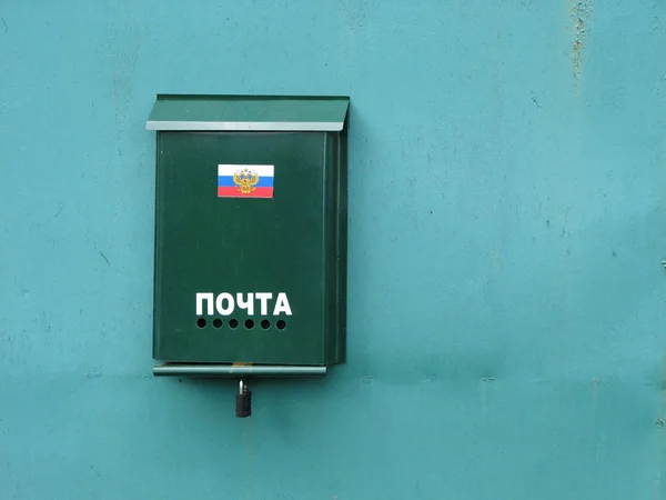
<path id="1" fill-rule="evenodd" d="M 218 198 L 273 198 L 274 166 L 219 164 Z"/>

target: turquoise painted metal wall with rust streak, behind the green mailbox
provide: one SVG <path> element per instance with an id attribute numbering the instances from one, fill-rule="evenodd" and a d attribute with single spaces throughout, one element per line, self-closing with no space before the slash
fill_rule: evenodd
<path id="1" fill-rule="evenodd" d="M 0 4 L 0 499 L 666 498 L 664 1 Z M 342 93 L 349 362 L 153 378 L 158 92 Z"/>

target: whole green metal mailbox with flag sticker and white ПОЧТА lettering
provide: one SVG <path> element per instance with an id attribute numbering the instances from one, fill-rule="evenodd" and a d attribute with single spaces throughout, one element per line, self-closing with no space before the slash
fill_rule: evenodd
<path id="1" fill-rule="evenodd" d="M 159 94 L 155 374 L 345 359 L 346 97 Z"/>

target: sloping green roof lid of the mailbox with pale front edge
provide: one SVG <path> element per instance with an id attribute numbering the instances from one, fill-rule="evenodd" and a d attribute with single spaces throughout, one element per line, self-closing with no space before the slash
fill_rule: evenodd
<path id="1" fill-rule="evenodd" d="M 158 94 L 145 124 L 172 131 L 342 131 L 347 97 Z"/>

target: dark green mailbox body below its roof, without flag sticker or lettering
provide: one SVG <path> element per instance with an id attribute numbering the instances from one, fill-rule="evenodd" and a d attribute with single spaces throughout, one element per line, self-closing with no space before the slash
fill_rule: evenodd
<path id="1" fill-rule="evenodd" d="M 159 133 L 155 359 L 344 361 L 345 149 L 334 132 Z M 274 166 L 273 197 L 218 198 L 220 163 Z M 198 293 L 253 294 L 254 310 L 225 316 L 209 299 L 198 314 Z M 291 316 L 273 313 L 281 293 Z"/>

